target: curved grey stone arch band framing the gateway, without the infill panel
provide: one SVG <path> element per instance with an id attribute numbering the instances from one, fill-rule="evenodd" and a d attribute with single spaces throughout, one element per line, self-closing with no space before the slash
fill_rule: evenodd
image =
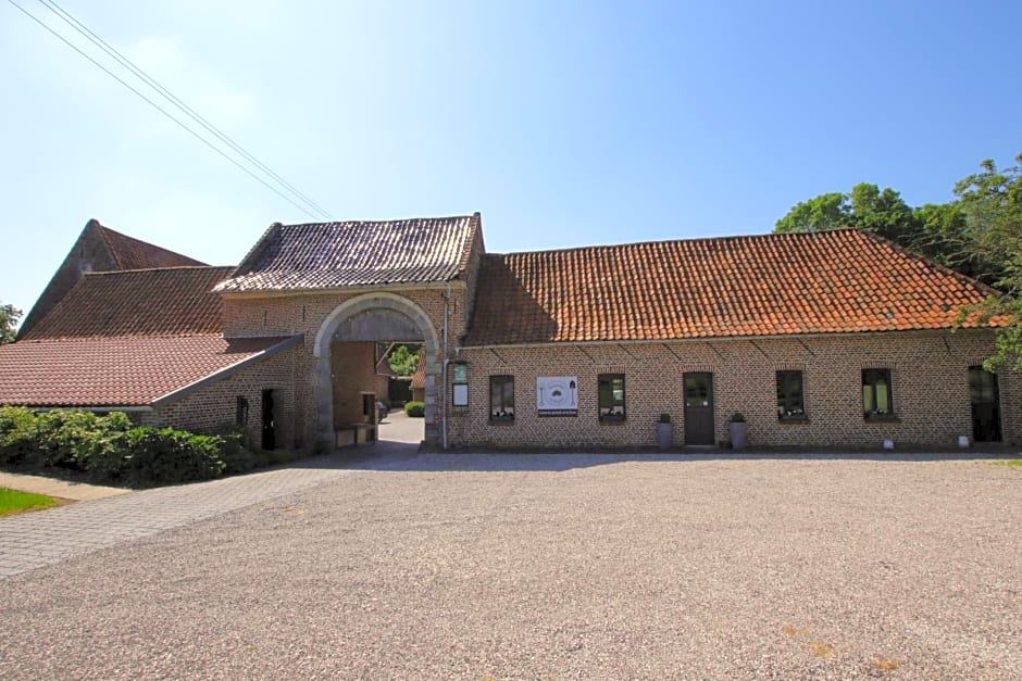
<path id="1" fill-rule="evenodd" d="M 315 398 L 316 398 L 316 439 L 327 449 L 334 446 L 334 390 L 331 377 L 331 343 L 334 335 L 352 317 L 373 311 L 388 311 L 398 313 L 411 319 L 422 333 L 423 346 L 426 353 L 426 390 L 425 390 L 425 440 L 427 444 L 436 445 L 439 442 L 437 427 L 437 384 L 443 370 L 439 361 L 440 341 L 429 315 L 416 303 L 398 295 L 379 291 L 365 293 L 346 300 L 333 310 L 316 331 L 312 346 L 315 362 Z M 376 339 L 392 340 L 392 339 Z"/>

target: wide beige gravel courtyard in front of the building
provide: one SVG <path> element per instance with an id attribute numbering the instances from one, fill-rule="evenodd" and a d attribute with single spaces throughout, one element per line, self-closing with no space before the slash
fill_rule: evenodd
<path id="1" fill-rule="evenodd" d="M 423 455 L 0 579 L 0 678 L 1022 678 L 1022 469 Z"/>

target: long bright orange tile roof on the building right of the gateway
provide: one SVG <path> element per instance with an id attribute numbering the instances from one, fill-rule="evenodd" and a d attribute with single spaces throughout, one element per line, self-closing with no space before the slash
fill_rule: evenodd
<path id="1" fill-rule="evenodd" d="M 950 327 L 996 293 L 857 230 L 486 255 L 465 345 Z"/>

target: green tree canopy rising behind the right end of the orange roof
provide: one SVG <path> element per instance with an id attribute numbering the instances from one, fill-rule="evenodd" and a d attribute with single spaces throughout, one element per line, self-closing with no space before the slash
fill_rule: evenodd
<path id="1" fill-rule="evenodd" d="M 857 227 L 999 289 L 1006 295 L 990 298 L 980 311 L 985 319 L 1008 319 L 986 366 L 1022 370 L 1022 154 L 1015 162 L 998 169 L 983 161 L 979 173 L 955 184 L 948 203 L 912 207 L 894 189 L 867 182 L 849 193 L 823 193 L 797 203 L 774 231 Z"/>

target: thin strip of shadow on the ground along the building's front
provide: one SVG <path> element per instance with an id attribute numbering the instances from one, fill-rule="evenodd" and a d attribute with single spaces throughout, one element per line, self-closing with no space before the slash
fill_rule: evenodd
<path id="1" fill-rule="evenodd" d="M 892 463 L 971 462 L 1019 458 L 1018 450 L 949 452 L 420 452 L 415 444 L 377 442 L 338 450 L 302 462 L 300 468 L 336 468 L 401 472 L 444 471 L 564 471 L 621 463 L 734 462 L 734 461 L 868 461 Z"/>

